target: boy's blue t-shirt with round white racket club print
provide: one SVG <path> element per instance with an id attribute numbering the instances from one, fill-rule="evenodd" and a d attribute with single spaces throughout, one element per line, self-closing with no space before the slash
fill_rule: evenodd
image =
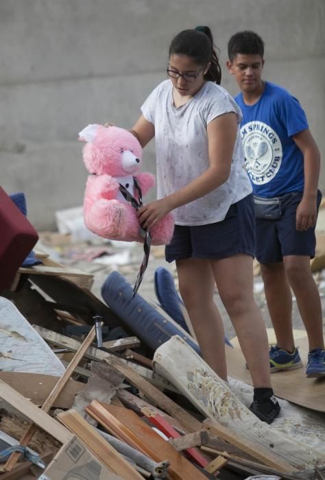
<path id="1" fill-rule="evenodd" d="M 270 82 L 254 105 L 245 105 L 241 93 L 234 99 L 243 112 L 241 139 L 253 193 L 269 198 L 303 191 L 304 157 L 292 138 L 308 128 L 299 101 Z"/>

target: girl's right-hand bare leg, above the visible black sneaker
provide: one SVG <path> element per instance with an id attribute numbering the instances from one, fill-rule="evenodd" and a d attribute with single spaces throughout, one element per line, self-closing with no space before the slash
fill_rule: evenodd
<path id="1" fill-rule="evenodd" d="M 237 333 L 255 388 L 271 387 L 263 317 L 253 296 L 252 257 L 237 254 L 210 261 L 220 298 Z"/>

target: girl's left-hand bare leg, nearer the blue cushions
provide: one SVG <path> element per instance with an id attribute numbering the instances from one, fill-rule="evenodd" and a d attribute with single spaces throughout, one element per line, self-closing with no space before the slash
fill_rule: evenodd
<path id="1" fill-rule="evenodd" d="M 177 260 L 180 295 L 189 312 L 202 357 L 227 381 L 224 325 L 213 301 L 215 279 L 208 260 Z"/>

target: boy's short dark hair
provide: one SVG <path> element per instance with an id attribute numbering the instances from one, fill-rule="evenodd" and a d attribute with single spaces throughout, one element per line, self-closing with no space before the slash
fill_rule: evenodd
<path id="1" fill-rule="evenodd" d="M 230 62 L 237 55 L 259 55 L 264 56 L 264 42 L 255 32 L 245 30 L 232 35 L 228 42 L 228 57 Z"/>

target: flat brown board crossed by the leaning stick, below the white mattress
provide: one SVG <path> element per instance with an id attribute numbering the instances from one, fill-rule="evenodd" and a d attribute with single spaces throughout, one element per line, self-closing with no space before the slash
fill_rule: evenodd
<path id="1" fill-rule="evenodd" d="M 58 382 L 59 376 L 36 373 L 0 372 L 0 379 L 10 385 L 16 392 L 29 398 L 35 405 L 42 405 Z M 70 379 L 64 390 L 56 398 L 53 406 L 71 408 L 75 395 L 82 391 L 84 383 Z"/>

